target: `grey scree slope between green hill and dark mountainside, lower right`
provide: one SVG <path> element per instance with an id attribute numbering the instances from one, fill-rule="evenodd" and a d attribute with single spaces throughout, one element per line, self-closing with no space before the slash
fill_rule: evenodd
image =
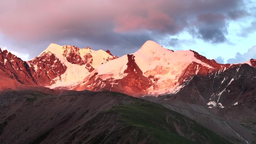
<path id="1" fill-rule="evenodd" d="M 244 127 L 239 122 L 234 122 L 231 119 L 228 120 L 225 119 L 225 117 L 213 114 L 209 111 L 209 108 L 205 108 L 202 105 L 191 104 L 180 100 L 159 102 L 157 98 L 147 96 L 143 98 L 157 102 L 171 110 L 187 116 L 235 144 L 247 144 L 246 141 L 251 143 L 251 141 L 255 142 L 256 140 L 255 132 Z"/>

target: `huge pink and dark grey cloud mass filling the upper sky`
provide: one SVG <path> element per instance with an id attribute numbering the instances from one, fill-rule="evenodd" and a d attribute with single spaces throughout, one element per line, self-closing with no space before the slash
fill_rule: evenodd
<path id="1" fill-rule="evenodd" d="M 8 0 L 1 2 L 0 34 L 30 53 L 58 43 L 122 55 L 182 31 L 225 42 L 228 22 L 243 15 L 241 0 Z"/>

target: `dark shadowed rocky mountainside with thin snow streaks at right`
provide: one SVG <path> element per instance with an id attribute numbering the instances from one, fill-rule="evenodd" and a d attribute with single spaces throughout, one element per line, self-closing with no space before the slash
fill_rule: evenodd
<path id="1" fill-rule="evenodd" d="M 225 71 L 193 76 L 176 94 L 158 96 L 161 101 L 182 100 L 207 108 L 255 107 L 256 69 L 232 65 Z M 252 111 L 253 112 L 253 111 Z"/>

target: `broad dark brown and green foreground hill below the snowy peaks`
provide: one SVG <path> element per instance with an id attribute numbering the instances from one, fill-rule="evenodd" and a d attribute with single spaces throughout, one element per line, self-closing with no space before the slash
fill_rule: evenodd
<path id="1" fill-rule="evenodd" d="M 55 91 L 56 93 L 56 91 Z M 5 91 L 3 144 L 231 144 L 159 104 L 113 92 Z"/>

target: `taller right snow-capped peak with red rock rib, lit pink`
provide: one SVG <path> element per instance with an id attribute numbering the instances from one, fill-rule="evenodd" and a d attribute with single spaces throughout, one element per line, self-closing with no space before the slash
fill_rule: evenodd
<path id="1" fill-rule="evenodd" d="M 117 91 L 133 96 L 175 94 L 193 76 L 229 67 L 231 64 L 218 64 L 192 50 L 174 52 L 147 41 L 137 52 L 100 65 L 74 89 Z"/>

